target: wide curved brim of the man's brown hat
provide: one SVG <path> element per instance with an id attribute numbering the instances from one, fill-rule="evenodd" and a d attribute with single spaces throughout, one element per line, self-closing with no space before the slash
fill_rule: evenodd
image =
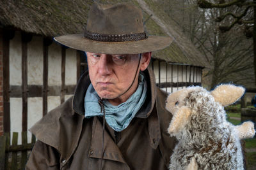
<path id="1" fill-rule="evenodd" d="M 139 41 L 104 42 L 84 38 L 83 34 L 68 34 L 54 38 L 55 41 L 70 48 L 93 53 L 132 54 L 154 52 L 169 46 L 173 39 L 166 36 L 148 36 Z"/>

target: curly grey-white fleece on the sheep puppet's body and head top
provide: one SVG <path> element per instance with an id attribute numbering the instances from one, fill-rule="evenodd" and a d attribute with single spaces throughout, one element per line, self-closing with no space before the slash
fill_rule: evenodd
<path id="1" fill-rule="evenodd" d="M 243 169 L 241 143 L 234 125 L 226 120 L 220 103 L 210 92 L 194 88 L 184 104 L 191 109 L 189 121 L 175 134 L 175 146 L 169 169 L 185 169 L 192 157 L 198 169 Z"/>

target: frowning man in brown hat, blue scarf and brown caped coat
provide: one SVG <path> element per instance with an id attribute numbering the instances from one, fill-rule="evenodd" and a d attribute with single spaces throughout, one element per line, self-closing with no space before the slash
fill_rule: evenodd
<path id="1" fill-rule="evenodd" d="M 93 4 L 83 35 L 55 38 L 86 51 L 88 73 L 30 129 L 38 141 L 26 169 L 168 169 L 172 116 L 147 67 L 172 39 L 147 36 L 142 18 L 129 3 Z"/>

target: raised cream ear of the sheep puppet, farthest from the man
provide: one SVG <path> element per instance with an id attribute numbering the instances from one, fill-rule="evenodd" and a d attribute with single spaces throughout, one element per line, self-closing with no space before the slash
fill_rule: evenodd
<path id="1" fill-rule="evenodd" d="M 211 94 L 222 106 L 235 103 L 243 96 L 245 89 L 236 85 L 219 85 Z"/>

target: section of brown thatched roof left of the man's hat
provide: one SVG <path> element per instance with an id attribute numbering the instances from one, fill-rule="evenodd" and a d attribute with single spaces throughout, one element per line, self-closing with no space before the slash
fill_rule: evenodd
<path id="1" fill-rule="evenodd" d="M 44 36 L 83 32 L 92 3 L 89 0 L 1 0 L 0 24 Z"/>

